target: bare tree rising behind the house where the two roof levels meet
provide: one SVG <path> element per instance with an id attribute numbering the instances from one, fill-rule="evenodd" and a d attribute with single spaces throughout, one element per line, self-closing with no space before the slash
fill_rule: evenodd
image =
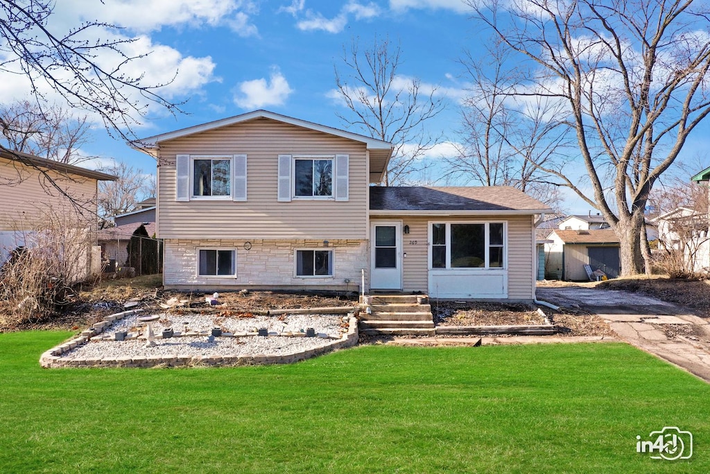
<path id="1" fill-rule="evenodd" d="M 420 80 L 399 75 L 402 49 L 388 38 L 375 38 L 366 50 L 354 39 L 342 59 L 346 73 L 336 66 L 335 82 L 349 113 L 338 117 L 347 128 L 394 145 L 385 185 L 410 183 L 426 167 L 425 153 L 441 140 L 427 133 L 425 123 L 442 111 L 442 100 Z"/>

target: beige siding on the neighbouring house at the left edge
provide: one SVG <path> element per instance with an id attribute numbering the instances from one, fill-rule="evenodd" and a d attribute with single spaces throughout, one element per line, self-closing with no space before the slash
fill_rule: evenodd
<path id="1" fill-rule="evenodd" d="M 48 171 L 48 176 L 82 208 L 82 221 L 96 227 L 97 181 Z M 40 171 L 0 158 L 0 230 L 30 230 L 47 212 L 74 215 L 76 208 Z M 67 217 L 68 218 L 68 217 Z"/>

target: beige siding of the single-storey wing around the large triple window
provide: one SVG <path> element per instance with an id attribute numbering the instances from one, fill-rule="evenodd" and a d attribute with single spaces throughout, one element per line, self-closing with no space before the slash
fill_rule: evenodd
<path id="1" fill-rule="evenodd" d="M 532 279 L 534 254 L 532 252 L 532 217 L 470 217 L 449 215 L 432 217 L 427 215 L 409 216 L 393 214 L 378 220 L 402 220 L 402 226 L 409 225 L 410 233 L 402 234 L 403 291 L 427 291 L 429 274 L 429 233 L 430 222 L 508 222 L 508 299 L 531 300 L 535 282 Z M 378 220 L 371 220 L 377 222 Z M 404 231 L 403 231 L 404 232 Z M 414 243 L 416 242 L 416 243 Z"/>

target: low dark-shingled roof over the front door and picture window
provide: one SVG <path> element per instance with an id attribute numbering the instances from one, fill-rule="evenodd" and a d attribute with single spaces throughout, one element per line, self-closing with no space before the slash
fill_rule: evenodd
<path id="1" fill-rule="evenodd" d="M 370 187 L 370 214 L 540 214 L 547 205 L 509 186 Z"/>

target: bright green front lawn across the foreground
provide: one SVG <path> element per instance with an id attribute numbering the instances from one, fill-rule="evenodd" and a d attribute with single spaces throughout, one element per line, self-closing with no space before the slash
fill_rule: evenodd
<path id="1" fill-rule="evenodd" d="M 710 385 L 622 344 L 366 346 L 296 365 L 45 370 L 0 334 L 0 472 L 710 472 Z M 635 453 L 692 431 L 690 460 Z"/>

